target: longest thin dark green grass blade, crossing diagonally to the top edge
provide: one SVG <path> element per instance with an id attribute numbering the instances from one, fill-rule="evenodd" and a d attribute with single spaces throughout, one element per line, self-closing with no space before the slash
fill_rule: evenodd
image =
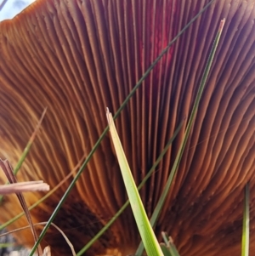
<path id="1" fill-rule="evenodd" d="M 156 58 L 156 60 L 153 61 L 153 63 L 150 65 L 150 67 L 148 68 L 147 71 L 144 72 L 144 76 L 141 77 L 141 79 L 139 80 L 139 82 L 137 82 L 137 84 L 134 86 L 134 88 L 131 90 L 131 92 L 127 95 L 127 98 L 122 102 L 122 105 L 120 106 L 120 108 L 116 111 L 115 116 L 113 117 L 113 119 L 115 120 L 116 117 L 119 116 L 119 114 L 121 113 L 122 109 L 124 108 L 125 105 L 127 105 L 128 100 L 130 100 L 130 98 L 133 96 L 133 94 L 135 93 L 135 91 L 140 87 L 140 85 L 142 84 L 142 82 L 144 81 L 144 79 L 150 74 L 150 71 L 153 70 L 154 66 L 157 64 L 157 62 L 159 60 L 161 60 L 162 56 L 164 54 L 167 53 L 168 49 L 173 45 L 173 43 L 175 43 L 178 39 L 178 37 L 180 37 L 184 31 L 186 31 L 186 29 L 216 0 L 211 0 L 209 3 L 207 3 L 207 5 L 201 9 L 201 11 L 198 12 L 198 14 L 195 15 L 194 18 L 192 18 L 190 20 L 190 22 L 184 26 L 184 28 L 178 32 L 178 35 L 176 37 L 173 38 L 173 40 L 167 44 L 167 47 L 164 48 L 161 51 L 161 54 L 158 55 L 158 57 Z M 55 216 L 57 215 L 57 213 L 59 212 L 59 209 L 61 208 L 61 206 L 63 205 L 63 203 L 65 202 L 66 197 L 69 195 L 69 193 L 71 192 L 71 189 L 73 188 L 73 186 L 76 184 L 77 179 L 79 179 L 80 175 L 82 174 L 83 169 L 87 166 L 89 160 L 91 159 L 91 157 L 94 155 L 94 152 L 96 151 L 96 149 L 98 148 L 100 142 L 105 138 L 105 134 L 107 134 L 109 127 L 107 126 L 105 128 L 105 130 L 103 131 L 103 133 L 99 136 L 99 139 L 97 140 L 97 142 L 95 143 L 93 149 L 89 152 L 85 162 L 82 163 L 81 168 L 79 169 L 79 171 L 77 172 L 77 175 L 75 176 L 75 178 L 71 181 L 71 184 L 69 185 L 68 189 L 65 191 L 65 194 L 62 196 L 62 198 L 59 200 L 58 205 L 56 206 L 56 208 L 54 209 L 54 212 L 51 214 L 50 218 L 48 219 L 48 225 L 45 225 L 44 229 L 42 230 L 37 243 L 31 248 L 31 253 L 29 254 L 29 256 L 32 256 L 32 253 L 35 252 L 37 245 L 39 244 L 39 242 L 42 241 L 43 236 L 46 234 L 46 231 L 48 230 L 50 223 L 54 220 Z"/>

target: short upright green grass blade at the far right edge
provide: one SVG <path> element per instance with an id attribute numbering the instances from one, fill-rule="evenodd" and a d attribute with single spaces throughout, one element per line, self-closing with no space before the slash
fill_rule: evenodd
<path id="1" fill-rule="evenodd" d="M 245 187 L 245 200 L 243 209 L 243 223 L 242 223 L 242 237 L 241 237 L 241 256 L 249 255 L 249 243 L 250 243 L 250 192 L 249 184 Z"/>

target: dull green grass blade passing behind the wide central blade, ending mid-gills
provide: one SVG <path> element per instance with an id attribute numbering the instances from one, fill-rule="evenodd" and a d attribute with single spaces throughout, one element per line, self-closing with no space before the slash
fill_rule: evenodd
<path id="1" fill-rule="evenodd" d="M 150 168 L 148 174 L 145 175 L 144 179 L 142 180 L 142 182 L 139 184 L 138 186 L 138 190 L 140 190 L 143 185 L 145 184 L 145 182 L 147 181 L 147 179 L 150 178 L 151 174 L 153 173 L 153 171 L 155 170 L 155 168 L 157 167 L 157 165 L 161 162 L 161 159 L 163 158 L 163 156 L 167 153 L 167 150 L 169 148 L 169 146 L 173 143 L 173 140 L 176 138 L 179 130 L 182 128 L 184 122 L 181 122 L 178 125 L 178 128 L 175 130 L 175 132 L 173 133 L 173 137 L 171 139 L 169 139 L 169 141 L 167 142 L 167 145 L 165 145 L 163 151 L 161 151 L 160 156 L 157 157 L 156 162 L 154 162 L 153 166 Z M 99 230 L 99 232 L 84 246 L 82 247 L 82 249 L 77 253 L 77 256 L 81 256 L 82 253 L 85 253 L 89 247 L 91 247 L 94 242 L 96 242 L 100 236 L 102 236 L 106 230 L 108 230 L 110 228 L 110 226 L 116 221 L 116 219 L 123 213 L 123 211 L 127 208 L 127 206 L 129 205 L 129 200 L 127 200 L 127 202 L 125 202 L 122 205 L 122 208 L 120 208 L 117 213 L 109 220 L 109 222 L 104 225 L 104 227 Z"/>

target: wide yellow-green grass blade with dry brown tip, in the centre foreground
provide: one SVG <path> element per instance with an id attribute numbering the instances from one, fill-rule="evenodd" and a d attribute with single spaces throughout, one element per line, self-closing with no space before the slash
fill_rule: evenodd
<path id="1" fill-rule="evenodd" d="M 136 224 L 139 228 L 140 236 L 142 237 L 142 240 L 144 242 L 146 252 L 149 256 L 163 256 L 161 247 L 157 242 L 154 231 L 150 226 L 150 221 L 145 212 L 143 202 L 139 196 L 139 191 L 133 180 L 133 175 L 131 173 L 127 158 L 123 151 L 122 143 L 119 139 L 113 118 L 111 116 L 111 112 L 109 112 L 108 108 L 106 112 L 106 117 L 110 128 L 111 140 L 113 142 L 117 160 L 122 171 L 122 178 L 126 187 L 127 196 L 133 210 L 134 219 L 136 220 Z"/>

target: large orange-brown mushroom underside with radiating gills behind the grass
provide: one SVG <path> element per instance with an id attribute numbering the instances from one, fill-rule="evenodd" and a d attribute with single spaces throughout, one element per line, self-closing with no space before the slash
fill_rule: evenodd
<path id="1" fill-rule="evenodd" d="M 88 156 L 115 112 L 161 50 L 208 1 L 37 0 L 0 23 L 0 157 L 13 165 L 48 112 L 18 174 L 51 187 Z M 255 251 L 255 2 L 214 1 L 169 48 L 116 119 L 137 184 L 167 140 L 189 117 L 219 20 L 218 52 L 178 173 L 156 225 L 180 255 L 240 255 L 243 190 L 250 183 L 250 252 Z M 140 191 L 150 216 L 184 138 L 184 126 Z M 1 174 L 2 175 L 2 174 Z M 1 176 L 3 179 L 3 175 Z M 48 220 L 70 184 L 31 211 Z M 30 205 L 42 193 L 27 194 Z M 0 220 L 21 210 L 6 196 Z M 54 219 L 78 251 L 126 202 L 114 149 L 106 136 Z M 19 219 L 10 228 L 26 225 Z M 38 230 L 39 232 L 40 230 Z M 19 242 L 32 245 L 29 233 Z M 62 236 L 43 239 L 54 255 L 70 255 Z M 134 253 L 140 237 L 128 208 L 86 255 Z"/>

